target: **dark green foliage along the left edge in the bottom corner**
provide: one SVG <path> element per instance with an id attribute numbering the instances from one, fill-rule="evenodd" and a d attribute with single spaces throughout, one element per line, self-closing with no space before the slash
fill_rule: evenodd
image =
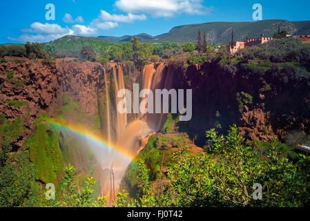
<path id="1" fill-rule="evenodd" d="M 39 206 L 39 186 L 35 182 L 29 151 L 17 151 L 11 142 L 25 129 L 23 120 L 12 122 L 0 114 L 0 206 Z"/>

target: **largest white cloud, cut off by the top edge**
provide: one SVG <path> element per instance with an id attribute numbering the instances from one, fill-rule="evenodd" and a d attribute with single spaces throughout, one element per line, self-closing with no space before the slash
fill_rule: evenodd
<path id="1" fill-rule="evenodd" d="M 206 8 L 203 0 L 117 0 L 115 6 L 123 12 L 146 13 L 153 17 L 173 17 L 178 14 L 208 15 L 213 7 Z"/>

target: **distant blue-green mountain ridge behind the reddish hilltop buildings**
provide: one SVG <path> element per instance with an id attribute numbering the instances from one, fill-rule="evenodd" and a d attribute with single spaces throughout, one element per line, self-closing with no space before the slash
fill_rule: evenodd
<path id="1" fill-rule="evenodd" d="M 291 35 L 310 35 L 310 21 L 285 21 L 285 20 L 264 20 L 256 22 L 211 22 L 199 23 L 186 26 L 177 26 L 168 33 L 152 37 L 151 35 L 139 34 L 137 37 L 141 41 L 173 41 L 183 43 L 185 41 L 195 42 L 197 32 L 206 31 L 209 44 L 227 44 L 231 40 L 231 28 L 235 30 L 235 39 L 243 40 L 246 37 L 254 38 L 261 34 L 271 37 L 274 32 L 281 29 L 288 30 Z M 111 42 L 130 41 L 131 36 L 108 37 L 101 36 L 103 39 Z"/>

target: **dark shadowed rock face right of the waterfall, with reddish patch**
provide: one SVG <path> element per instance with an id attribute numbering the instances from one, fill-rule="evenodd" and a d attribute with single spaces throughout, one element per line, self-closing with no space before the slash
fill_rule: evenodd
<path id="1" fill-rule="evenodd" d="M 209 62 L 201 66 L 174 64 L 177 88 L 193 90 L 193 118 L 180 122 L 180 132 L 206 142 L 205 131 L 226 133 L 237 124 L 246 140 L 283 139 L 288 131 L 310 129 L 310 97 L 307 81 L 284 81 L 266 70 L 253 75 L 239 66 Z M 271 88 L 265 89 L 269 84 Z"/>

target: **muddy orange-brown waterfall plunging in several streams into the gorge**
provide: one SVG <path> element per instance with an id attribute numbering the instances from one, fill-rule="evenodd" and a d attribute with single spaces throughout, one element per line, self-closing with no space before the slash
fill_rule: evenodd
<path id="1" fill-rule="evenodd" d="M 172 79 L 171 76 L 167 77 L 166 71 L 164 71 L 166 65 L 164 63 L 159 64 L 156 68 L 153 64 L 150 64 L 144 68 L 143 76 L 142 76 L 142 88 L 152 90 L 155 95 L 155 89 L 163 89 L 166 88 L 170 90 Z M 124 97 L 117 97 L 117 93 L 119 90 L 125 88 L 124 85 L 124 74 L 122 70 L 122 66 L 117 66 L 117 71 L 115 69 L 115 64 L 112 64 L 114 85 L 115 85 L 115 106 L 124 99 Z M 105 72 L 104 72 L 105 73 Z M 106 79 L 106 73 L 105 73 Z M 108 89 L 106 85 L 106 96 L 108 97 Z M 143 100 L 143 99 L 142 99 Z M 126 104 L 124 106 L 126 108 Z M 144 107 L 145 108 L 145 107 Z M 108 110 L 108 133 L 110 134 L 110 108 L 107 106 Z M 116 108 L 117 110 L 117 108 Z M 155 111 L 155 106 L 154 106 Z M 154 113 L 146 113 L 144 115 L 139 114 L 139 118 L 133 120 L 133 122 L 127 123 L 127 115 L 126 113 L 116 113 L 116 144 L 120 148 L 124 148 L 127 152 L 131 153 L 133 156 L 136 156 L 139 153 L 139 139 L 142 137 L 146 137 L 151 133 L 158 132 L 162 128 L 164 124 L 164 120 L 166 119 L 166 115 L 163 113 L 155 114 Z M 108 135 L 108 139 L 110 140 L 110 135 Z M 144 142 L 145 139 L 144 139 Z M 110 165 L 108 165 L 110 164 Z M 115 199 L 115 193 L 119 191 L 119 185 L 122 182 L 122 178 L 126 173 L 126 169 L 128 168 L 128 162 L 123 162 L 121 159 L 117 158 L 117 156 L 110 154 L 107 162 L 103 162 L 104 169 L 110 170 L 110 166 L 113 165 L 113 174 L 115 179 L 115 192 L 111 194 L 110 177 L 106 177 L 104 181 L 104 188 L 106 188 L 105 193 L 110 195 L 110 202 Z M 114 189 L 114 188 L 113 188 Z"/>

